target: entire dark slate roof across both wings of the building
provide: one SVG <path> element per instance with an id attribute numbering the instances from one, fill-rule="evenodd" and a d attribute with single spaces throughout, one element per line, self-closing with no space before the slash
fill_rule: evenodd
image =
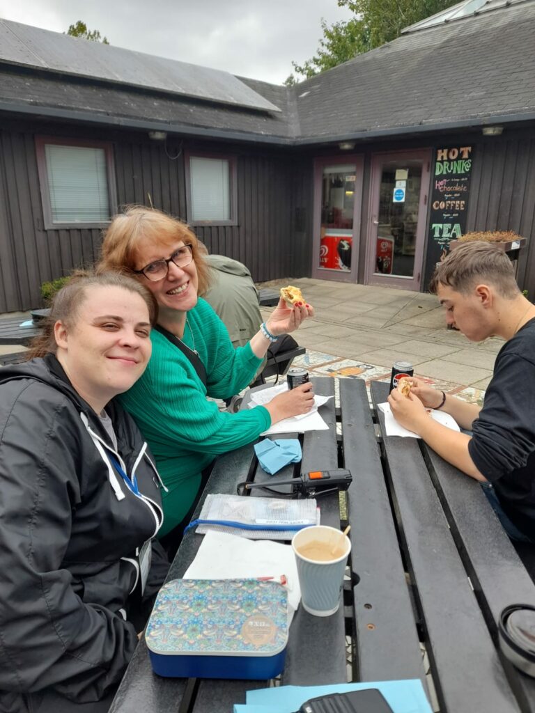
<path id="1" fill-rule="evenodd" d="M 235 78 L 278 113 L 20 68 L 0 47 L 0 111 L 288 144 L 535 119 L 535 0 L 412 30 L 293 88 Z"/>

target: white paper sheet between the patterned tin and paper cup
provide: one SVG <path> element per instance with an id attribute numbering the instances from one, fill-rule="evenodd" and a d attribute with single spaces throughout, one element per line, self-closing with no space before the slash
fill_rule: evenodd
<path id="1" fill-rule="evenodd" d="M 288 593 L 288 623 L 299 606 L 301 590 L 291 545 L 270 540 L 246 540 L 210 531 L 200 543 L 184 579 L 280 578 L 285 575 Z"/>

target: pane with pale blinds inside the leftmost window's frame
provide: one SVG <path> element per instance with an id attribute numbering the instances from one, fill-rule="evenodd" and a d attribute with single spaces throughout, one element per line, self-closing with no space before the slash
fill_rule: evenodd
<path id="1" fill-rule="evenodd" d="M 103 148 L 45 145 L 52 222 L 110 220 L 106 152 Z"/>

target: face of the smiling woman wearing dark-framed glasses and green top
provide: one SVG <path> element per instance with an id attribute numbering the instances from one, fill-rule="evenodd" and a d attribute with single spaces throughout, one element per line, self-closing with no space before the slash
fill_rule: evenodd
<path id="1" fill-rule="evenodd" d="M 162 258 L 167 260 L 184 245 L 182 240 L 168 246 L 148 242 L 136 253 L 135 269 L 142 270 L 151 262 Z M 166 277 L 158 280 L 158 282 L 152 282 L 143 275 L 139 279 L 143 286 L 150 289 L 154 297 L 156 297 L 161 314 L 165 314 L 165 312 L 168 314 L 169 312 L 188 312 L 192 307 L 195 307 L 198 299 L 198 275 L 195 260 L 192 260 L 185 267 L 177 267 L 174 262 L 169 262 L 168 268 Z"/>

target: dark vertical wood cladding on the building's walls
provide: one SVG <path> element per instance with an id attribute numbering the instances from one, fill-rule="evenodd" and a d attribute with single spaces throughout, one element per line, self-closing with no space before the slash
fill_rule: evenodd
<path id="1" fill-rule="evenodd" d="M 44 230 L 35 135 L 111 140 L 114 146 L 118 206 L 149 205 L 186 216 L 184 150 L 235 155 L 238 225 L 202 226 L 195 232 L 210 252 L 244 262 L 253 279 L 306 277 L 312 265 L 314 148 L 294 150 L 265 145 L 169 139 L 121 130 L 75 129 L 39 123 L 0 130 L 0 312 L 41 304 L 39 287 L 73 267 L 98 257 L 98 229 Z M 467 230 L 514 230 L 528 239 L 519 260 L 521 287 L 535 297 L 535 135 L 523 130 L 501 138 L 452 136 L 452 143 L 474 145 L 474 172 Z M 435 138 L 412 146 L 436 144 Z M 389 148 L 395 148 L 394 141 Z M 369 165 L 365 169 L 365 185 Z M 366 195 L 366 193 L 365 193 Z M 149 198 L 150 196 L 150 198 Z M 366 200 L 366 199 L 364 199 Z M 363 204 L 365 205 L 365 203 Z M 363 212 L 363 222 L 365 212 Z"/>

